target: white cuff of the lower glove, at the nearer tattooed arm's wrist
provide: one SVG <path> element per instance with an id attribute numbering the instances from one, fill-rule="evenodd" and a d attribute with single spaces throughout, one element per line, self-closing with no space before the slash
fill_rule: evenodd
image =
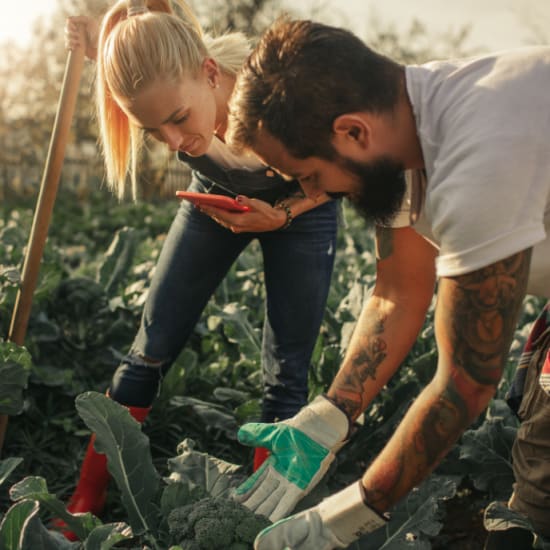
<path id="1" fill-rule="evenodd" d="M 388 521 L 365 504 L 361 481 L 322 500 L 318 510 L 323 524 L 345 545 L 351 544 L 361 535 L 375 531 Z"/>

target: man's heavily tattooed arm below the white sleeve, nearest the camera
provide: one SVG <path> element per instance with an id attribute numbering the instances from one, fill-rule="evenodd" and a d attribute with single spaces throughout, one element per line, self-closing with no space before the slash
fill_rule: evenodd
<path id="1" fill-rule="evenodd" d="M 386 511 L 418 485 L 485 409 L 499 383 L 525 296 L 531 251 L 439 283 L 439 361 L 430 384 L 363 476 Z"/>

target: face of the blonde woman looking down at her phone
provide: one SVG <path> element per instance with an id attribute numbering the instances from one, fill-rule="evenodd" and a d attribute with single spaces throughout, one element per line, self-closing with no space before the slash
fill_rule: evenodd
<path id="1" fill-rule="evenodd" d="M 204 155 L 216 130 L 216 98 L 205 71 L 182 82 L 155 81 L 121 108 L 130 123 L 193 157 Z"/>

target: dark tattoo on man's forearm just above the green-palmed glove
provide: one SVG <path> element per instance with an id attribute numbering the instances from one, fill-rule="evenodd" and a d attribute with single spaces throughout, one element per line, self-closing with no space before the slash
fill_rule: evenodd
<path id="1" fill-rule="evenodd" d="M 387 356 L 387 344 L 382 338 L 384 323 L 383 317 L 367 320 L 359 351 L 351 358 L 351 365 L 341 372 L 339 383 L 332 387 L 335 399 L 351 419 L 365 410 L 363 386 L 369 378 L 376 380 L 378 367 Z"/>

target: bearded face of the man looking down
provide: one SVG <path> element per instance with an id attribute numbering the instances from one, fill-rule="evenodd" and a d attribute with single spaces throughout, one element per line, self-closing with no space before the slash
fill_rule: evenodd
<path id="1" fill-rule="evenodd" d="M 405 194 L 404 167 L 388 156 L 359 162 L 334 150 L 331 160 L 298 159 L 266 132 L 260 133 L 254 151 L 283 176 L 298 180 L 306 196 L 345 196 L 369 221 L 388 223 Z"/>

